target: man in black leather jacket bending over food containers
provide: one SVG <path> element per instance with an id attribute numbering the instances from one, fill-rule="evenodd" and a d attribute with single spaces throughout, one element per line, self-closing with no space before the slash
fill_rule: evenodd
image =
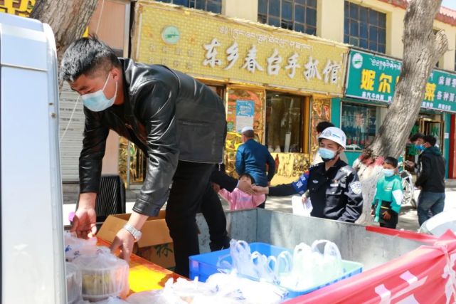
<path id="1" fill-rule="evenodd" d="M 114 130 L 147 152 L 147 176 L 112 250 L 120 248 L 128 260 L 147 217 L 156 216 L 168 201 L 175 271 L 189 276 L 188 258 L 199 253 L 195 214 L 213 164 L 223 158 L 226 117 L 221 98 L 198 80 L 163 65 L 117 58 L 96 38 L 80 38 L 69 46 L 60 77 L 85 105 L 80 198 L 72 230 L 82 237 L 96 232 L 102 157 L 108 132 Z"/>

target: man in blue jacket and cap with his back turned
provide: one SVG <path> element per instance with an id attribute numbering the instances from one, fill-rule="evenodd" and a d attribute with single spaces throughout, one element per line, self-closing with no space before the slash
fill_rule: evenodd
<path id="1" fill-rule="evenodd" d="M 239 176 L 248 173 L 255 180 L 255 184 L 267 187 L 275 174 L 275 161 L 267 147 L 253 139 L 255 137 L 253 127 L 243 127 L 241 134 L 243 145 L 240 145 L 236 152 L 236 172 Z M 265 202 L 258 208 L 264 209 Z"/>

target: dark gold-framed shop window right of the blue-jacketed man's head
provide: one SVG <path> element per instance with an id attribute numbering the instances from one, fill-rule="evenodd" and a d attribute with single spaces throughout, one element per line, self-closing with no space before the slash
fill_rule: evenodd
<path id="1" fill-rule="evenodd" d="M 266 145 L 271 152 L 302 152 L 304 98 L 266 93 Z"/>

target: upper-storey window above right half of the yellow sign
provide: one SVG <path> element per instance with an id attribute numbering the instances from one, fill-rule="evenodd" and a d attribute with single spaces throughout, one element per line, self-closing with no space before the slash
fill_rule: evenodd
<path id="1" fill-rule="evenodd" d="M 258 22 L 317 34 L 317 0 L 258 0 Z"/>

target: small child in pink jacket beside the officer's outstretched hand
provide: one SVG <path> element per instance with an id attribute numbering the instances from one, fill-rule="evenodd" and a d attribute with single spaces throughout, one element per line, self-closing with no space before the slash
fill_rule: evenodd
<path id="1" fill-rule="evenodd" d="M 255 183 L 253 177 L 248 173 L 242 174 L 239 177 L 239 180 L 248 182 L 249 184 Z M 238 188 L 235 188 L 233 192 L 229 192 L 226 189 L 221 189 L 218 194 L 220 194 L 223 199 L 226 199 L 226 201 L 228 201 L 231 211 L 252 209 L 260 204 L 263 204 L 263 202 L 266 200 L 265 194 L 250 195 Z"/>

